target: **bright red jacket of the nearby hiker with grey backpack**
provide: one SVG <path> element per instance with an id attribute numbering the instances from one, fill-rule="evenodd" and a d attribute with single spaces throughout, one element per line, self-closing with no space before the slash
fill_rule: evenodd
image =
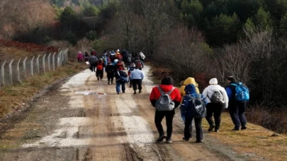
<path id="1" fill-rule="evenodd" d="M 164 91 L 164 93 L 168 93 L 174 86 L 173 85 L 159 85 L 160 88 Z M 159 92 L 158 87 L 152 88 L 152 93 L 150 93 L 150 102 L 152 102 L 152 106 L 155 107 L 155 103 L 159 100 L 161 93 Z M 179 89 L 175 88 L 170 94 L 171 100 L 174 101 L 175 107 L 178 107 L 181 102 L 181 94 L 179 93 Z"/>

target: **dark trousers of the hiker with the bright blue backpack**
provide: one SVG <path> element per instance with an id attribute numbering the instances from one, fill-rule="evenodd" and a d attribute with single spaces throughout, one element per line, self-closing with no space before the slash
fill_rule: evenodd
<path id="1" fill-rule="evenodd" d="M 244 114 L 246 104 L 247 102 L 237 102 L 236 104 L 230 105 L 228 107 L 230 117 L 233 124 L 235 125 L 235 129 L 240 129 L 240 126 L 245 127 L 247 124 L 247 120 Z"/>

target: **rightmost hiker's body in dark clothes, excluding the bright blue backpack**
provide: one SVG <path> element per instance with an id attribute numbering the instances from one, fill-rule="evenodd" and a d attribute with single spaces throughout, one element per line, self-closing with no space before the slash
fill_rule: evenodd
<path id="1" fill-rule="evenodd" d="M 232 119 L 235 128 L 232 129 L 234 131 L 240 131 L 247 129 L 247 119 L 245 117 L 245 109 L 247 105 L 247 100 L 239 101 L 236 99 L 236 88 L 240 85 L 240 82 L 236 80 L 235 77 L 229 76 L 227 77 L 227 87 L 225 88 L 229 102 L 228 102 L 228 111 L 230 113 L 230 117 Z M 247 88 L 245 84 L 242 83 L 242 87 Z M 248 88 L 247 88 L 248 89 Z"/>

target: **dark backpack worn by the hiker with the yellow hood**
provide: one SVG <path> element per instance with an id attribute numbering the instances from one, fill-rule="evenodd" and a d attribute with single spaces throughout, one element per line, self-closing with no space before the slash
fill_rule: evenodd
<path id="1" fill-rule="evenodd" d="M 190 95 L 186 95 L 190 97 L 191 100 L 188 105 L 191 106 L 191 114 L 194 118 L 203 118 L 206 117 L 206 105 L 204 104 L 203 100 L 201 99 L 201 94 L 198 94 L 198 97 L 192 97 Z"/>

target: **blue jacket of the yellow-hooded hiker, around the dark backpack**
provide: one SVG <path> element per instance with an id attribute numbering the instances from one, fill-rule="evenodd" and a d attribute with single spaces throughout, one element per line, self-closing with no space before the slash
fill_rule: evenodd
<path id="1" fill-rule="evenodd" d="M 189 105 L 191 103 L 190 101 L 191 98 L 188 97 L 187 95 L 198 98 L 199 94 L 196 93 L 196 86 L 194 86 L 193 84 L 186 85 L 186 88 L 184 88 L 184 90 L 186 92 L 186 95 L 184 96 L 184 99 L 182 100 L 181 112 L 184 112 L 186 118 L 191 118 L 196 113 L 195 111 L 193 111 L 193 109 L 191 109 L 191 105 Z M 206 97 L 201 95 L 201 99 L 203 100 L 205 105 L 208 104 Z"/>

